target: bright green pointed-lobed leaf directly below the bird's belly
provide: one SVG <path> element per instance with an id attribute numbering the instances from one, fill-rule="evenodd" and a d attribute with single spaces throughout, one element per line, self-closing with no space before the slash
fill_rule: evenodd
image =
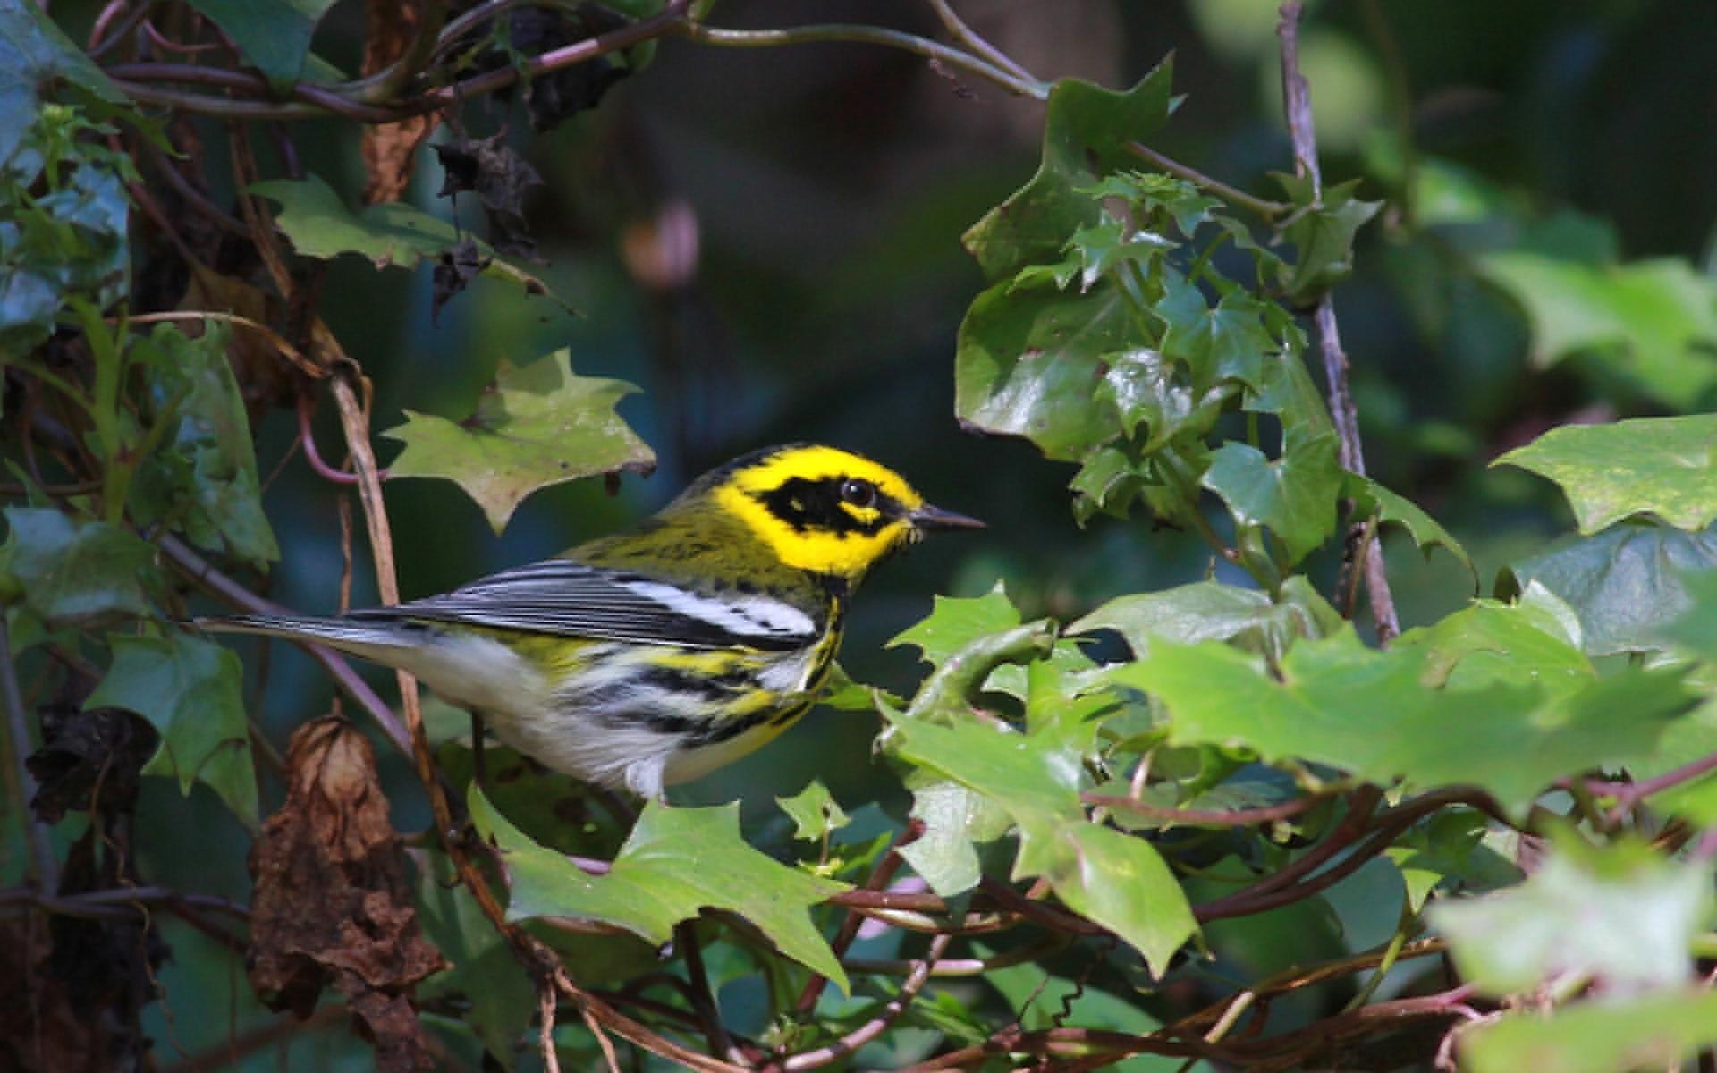
<path id="1" fill-rule="evenodd" d="M 512 881 L 508 920 L 596 920 L 661 944 L 680 920 L 704 908 L 726 910 L 750 920 L 788 958 L 850 991 L 834 951 L 810 920 L 810 906 L 846 884 L 807 876 L 745 845 L 738 803 L 670 809 L 649 802 L 608 874 L 591 876 L 525 838 L 476 783 L 467 800 L 477 831 L 501 850 Z"/>

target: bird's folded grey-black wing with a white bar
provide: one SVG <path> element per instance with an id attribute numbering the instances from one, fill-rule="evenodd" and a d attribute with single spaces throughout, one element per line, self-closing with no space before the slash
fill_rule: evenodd
<path id="1" fill-rule="evenodd" d="M 625 570 L 544 560 L 445 596 L 355 611 L 352 618 L 452 621 L 496 630 L 699 649 L 798 649 L 817 621 L 761 592 L 706 596 Z"/>

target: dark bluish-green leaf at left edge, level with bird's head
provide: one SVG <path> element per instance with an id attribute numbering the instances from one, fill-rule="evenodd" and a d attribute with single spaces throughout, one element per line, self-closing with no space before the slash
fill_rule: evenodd
<path id="1" fill-rule="evenodd" d="M 76 520 L 52 506 L 7 506 L 10 534 L 0 572 L 52 627 L 113 615 L 149 615 L 144 582 L 155 579 L 155 548 L 129 529 Z"/>

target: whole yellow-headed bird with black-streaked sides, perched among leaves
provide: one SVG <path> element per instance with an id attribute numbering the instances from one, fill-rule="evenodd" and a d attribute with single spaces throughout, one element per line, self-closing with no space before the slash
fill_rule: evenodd
<path id="1" fill-rule="evenodd" d="M 828 680 L 853 589 L 934 529 L 984 524 L 833 446 L 754 452 L 556 558 L 340 618 L 197 618 L 410 671 L 537 762 L 663 797 L 764 745 Z"/>

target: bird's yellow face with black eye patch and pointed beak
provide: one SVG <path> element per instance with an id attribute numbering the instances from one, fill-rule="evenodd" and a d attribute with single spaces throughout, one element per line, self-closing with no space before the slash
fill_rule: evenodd
<path id="1" fill-rule="evenodd" d="M 795 445 L 742 460 L 716 498 L 786 565 L 857 580 L 922 536 L 924 496 L 895 470 L 833 446 Z M 968 522 L 968 520 L 967 520 Z"/>

